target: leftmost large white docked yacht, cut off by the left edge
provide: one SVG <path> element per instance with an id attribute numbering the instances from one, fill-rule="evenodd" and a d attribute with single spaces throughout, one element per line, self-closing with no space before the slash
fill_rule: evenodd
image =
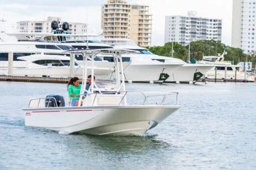
<path id="1" fill-rule="evenodd" d="M 0 74 L 8 75 L 8 55 L 9 52 L 13 52 L 13 76 L 70 77 L 70 54 L 63 52 L 74 49 L 62 43 L 0 42 Z M 74 63 L 73 75 L 82 77 L 83 65 L 79 65 L 76 59 Z M 90 59 L 88 58 L 89 63 Z M 125 67 L 127 65 L 125 64 Z M 95 61 L 95 75 L 111 75 L 113 71 L 112 63 L 101 59 Z"/>

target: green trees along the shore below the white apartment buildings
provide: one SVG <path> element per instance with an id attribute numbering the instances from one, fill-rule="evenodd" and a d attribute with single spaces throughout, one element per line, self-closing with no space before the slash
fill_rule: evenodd
<path id="1" fill-rule="evenodd" d="M 172 42 L 166 43 L 164 46 L 147 47 L 150 52 L 171 57 Z M 173 42 L 173 57 L 188 60 L 188 45 L 183 46 L 178 42 Z M 202 60 L 203 56 L 216 56 L 222 54 L 226 50 L 227 54 L 224 55 L 225 60 L 234 61 L 234 64 L 238 62 L 248 61 L 253 63 L 253 67 L 256 62 L 256 54 L 245 54 L 241 48 L 234 48 L 225 45 L 224 43 L 217 43 L 214 40 L 201 40 L 190 43 L 190 60 Z"/>

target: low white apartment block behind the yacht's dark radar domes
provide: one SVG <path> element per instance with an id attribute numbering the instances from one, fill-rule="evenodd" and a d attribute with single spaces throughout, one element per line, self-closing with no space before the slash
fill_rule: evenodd
<path id="1" fill-rule="evenodd" d="M 51 17 L 49 16 L 46 21 L 19 21 L 17 23 L 17 30 L 20 32 L 46 32 L 50 33 L 51 22 L 58 21 L 59 26 L 62 25 L 60 17 Z M 87 31 L 87 25 L 85 23 L 69 23 L 69 31 L 72 34 L 83 34 Z"/>

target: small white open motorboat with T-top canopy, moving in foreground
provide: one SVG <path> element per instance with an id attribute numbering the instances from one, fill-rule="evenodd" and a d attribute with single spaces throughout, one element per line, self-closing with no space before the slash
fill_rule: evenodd
<path id="1" fill-rule="evenodd" d="M 69 52 L 83 55 L 84 78 L 78 106 L 65 106 L 61 96 L 31 99 L 28 108 L 24 109 L 26 126 L 66 133 L 142 135 L 180 108 L 177 105 L 178 93 L 176 92 L 145 96 L 142 92 L 126 91 L 121 55 L 132 54 L 135 53 L 134 51 L 101 49 L 70 50 Z M 92 79 L 90 88 L 85 95 L 83 92 L 88 76 L 87 57 L 92 57 L 90 73 L 94 77 L 94 57 L 99 54 L 113 56 L 116 83 L 114 86 L 102 88 L 96 83 L 97 80 Z M 141 94 L 142 101 L 135 99 L 138 98 L 138 95 L 134 95 L 132 99 L 129 98 L 131 93 Z M 158 103 L 154 101 L 157 96 L 161 96 Z M 169 97 L 171 97 L 171 101 Z M 136 101 L 136 103 L 131 105 L 129 104 L 131 101 Z M 169 105 L 164 105 L 165 103 L 169 103 Z"/>

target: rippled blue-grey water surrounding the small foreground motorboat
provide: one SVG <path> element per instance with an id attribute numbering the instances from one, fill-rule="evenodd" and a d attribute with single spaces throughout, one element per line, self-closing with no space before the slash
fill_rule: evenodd
<path id="1" fill-rule="evenodd" d="M 24 126 L 30 98 L 65 84 L 0 82 L 0 169 L 256 169 L 256 83 L 126 84 L 178 91 L 180 110 L 143 137 L 61 135 Z"/>

